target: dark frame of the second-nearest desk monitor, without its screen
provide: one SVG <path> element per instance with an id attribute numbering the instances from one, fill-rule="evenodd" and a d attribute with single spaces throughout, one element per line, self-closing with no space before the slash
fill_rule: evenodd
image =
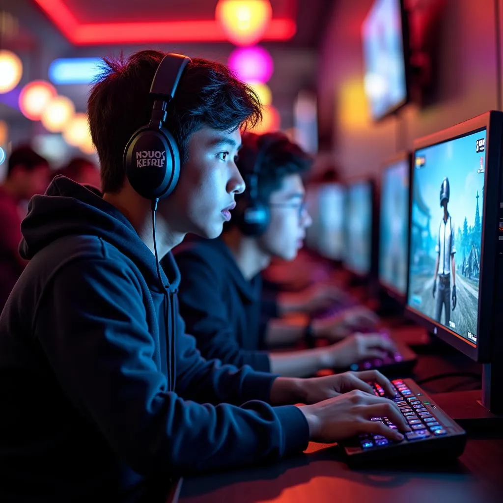
<path id="1" fill-rule="evenodd" d="M 377 256 L 378 256 L 378 263 L 377 263 L 377 280 L 379 283 L 379 286 L 382 290 L 384 290 L 390 297 L 395 299 L 401 306 L 405 306 L 407 303 L 407 298 L 408 298 L 408 268 L 409 268 L 409 236 L 408 234 L 410 233 L 410 198 L 411 198 L 411 190 L 410 190 L 410 180 L 412 177 L 412 154 L 411 152 L 408 151 L 403 151 L 399 152 L 398 154 L 394 155 L 393 157 L 388 158 L 382 165 L 381 165 L 381 186 L 380 186 L 380 208 L 379 208 L 379 230 L 378 230 L 378 241 L 377 241 Z M 406 286 L 405 286 L 405 293 L 399 292 L 393 285 L 387 283 L 386 281 L 383 281 L 380 276 L 380 260 L 381 260 L 381 217 L 382 217 L 382 191 L 384 187 L 384 175 L 386 172 L 394 165 L 398 164 L 399 162 L 405 161 L 407 162 L 408 166 L 408 176 L 409 176 L 409 185 L 408 185 L 408 206 L 407 206 L 407 265 L 406 265 L 406 270 L 407 270 L 407 281 L 406 281 Z"/>

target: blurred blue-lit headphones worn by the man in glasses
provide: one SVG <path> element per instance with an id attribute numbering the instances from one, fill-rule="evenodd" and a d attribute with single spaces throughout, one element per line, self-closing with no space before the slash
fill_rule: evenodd
<path id="1" fill-rule="evenodd" d="M 246 190 L 244 194 L 239 196 L 236 212 L 232 217 L 236 222 L 237 227 L 245 236 L 260 236 L 262 235 L 271 221 L 271 210 L 269 206 L 259 199 L 259 174 L 262 169 L 262 163 L 268 151 L 273 145 L 282 143 L 286 137 L 271 135 L 265 138 L 259 138 L 257 141 L 257 150 L 255 153 L 255 162 L 250 170 L 244 170 L 244 182 Z M 243 151 L 241 157 L 247 154 Z M 250 153 L 253 155 L 253 153 Z"/>

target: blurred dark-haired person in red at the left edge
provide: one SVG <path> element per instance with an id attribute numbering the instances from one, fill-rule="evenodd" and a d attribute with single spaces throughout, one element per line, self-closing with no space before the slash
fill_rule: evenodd
<path id="1" fill-rule="evenodd" d="M 49 184 L 49 163 L 31 147 L 14 149 L 7 177 L 0 184 L 0 312 L 26 266 L 19 255 L 22 209 L 20 203 L 43 194 Z"/>

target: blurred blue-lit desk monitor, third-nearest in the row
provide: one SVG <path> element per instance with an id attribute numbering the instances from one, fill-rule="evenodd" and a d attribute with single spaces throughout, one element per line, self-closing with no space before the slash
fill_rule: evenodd
<path id="1" fill-rule="evenodd" d="M 361 278 L 372 272 L 374 184 L 350 183 L 346 196 L 344 267 Z"/>

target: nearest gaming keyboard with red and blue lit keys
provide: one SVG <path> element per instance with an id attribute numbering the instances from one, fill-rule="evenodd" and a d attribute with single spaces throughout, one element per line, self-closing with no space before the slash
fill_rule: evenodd
<path id="1" fill-rule="evenodd" d="M 395 397 L 393 401 L 406 418 L 412 431 L 400 441 L 381 435 L 362 434 L 341 443 L 351 465 L 381 462 L 398 458 L 417 459 L 422 456 L 455 458 L 462 454 L 466 444 L 466 432 L 457 425 L 412 379 L 391 381 Z M 377 396 L 385 391 L 374 383 Z M 395 429 L 387 417 L 372 417 Z"/>

